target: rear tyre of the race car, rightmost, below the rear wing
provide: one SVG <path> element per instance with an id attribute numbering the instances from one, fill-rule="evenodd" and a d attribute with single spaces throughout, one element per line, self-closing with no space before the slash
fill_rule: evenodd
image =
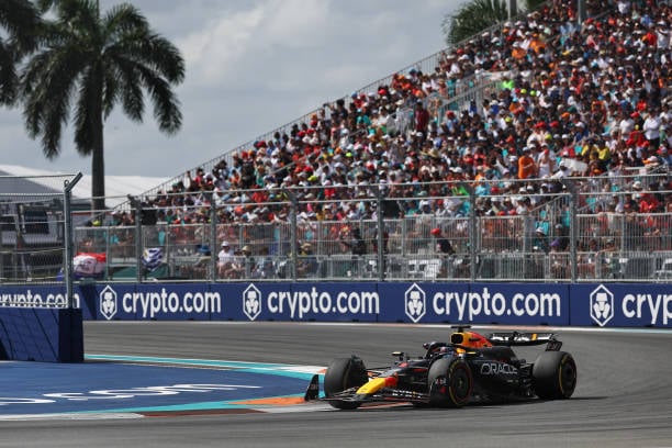
<path id="1" fill-rule="evenodd" d="M 544 351 L 533 366 L 533 388 L 541 400 L 569 399 L 576 387 L 576 362 L 567 351 Z"/>

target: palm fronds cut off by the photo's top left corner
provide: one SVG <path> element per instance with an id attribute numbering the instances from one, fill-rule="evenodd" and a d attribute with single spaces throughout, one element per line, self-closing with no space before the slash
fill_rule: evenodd
<path id="1" fill-rule="evenodd" d="M 16 63 L 35 44 L 40 18 L 29 0 L 0 1 L 0 104 L 12 104 L 19 78 Z"/>

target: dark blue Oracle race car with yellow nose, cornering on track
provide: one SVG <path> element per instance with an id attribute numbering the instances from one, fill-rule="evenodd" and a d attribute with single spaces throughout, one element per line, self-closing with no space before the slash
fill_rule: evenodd
<path id="1" fill-rule="evenodd" d="M 469 325 L 453 326 L 449 343 L 423 345 L 425 355 L 395 351 L 390 367 L 367 369 L 352 355 L 337 358 L 324 376 L 320 397 L 314 376 L 306 400 L 320 399 L 339 410 L 365 403 L 412 403 L 415 406 L 461 407 L 478 402 L 569 399 L 576 387 L 576 363 L 553 333 L 493 333 L 488 337 Z M 534 362 L 519 359 L 512 347 L 546 345 Z"/>

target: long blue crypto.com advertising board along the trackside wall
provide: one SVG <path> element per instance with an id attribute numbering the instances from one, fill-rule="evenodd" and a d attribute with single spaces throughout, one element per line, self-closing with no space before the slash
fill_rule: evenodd
<path id="1" fill-rule="evenodd" d="M 61 307 L 64 287 L 3 287 L 1 306 Z M 671 327 L 670 284 L 96 283 L 85 320 L 406 322 Z"/>

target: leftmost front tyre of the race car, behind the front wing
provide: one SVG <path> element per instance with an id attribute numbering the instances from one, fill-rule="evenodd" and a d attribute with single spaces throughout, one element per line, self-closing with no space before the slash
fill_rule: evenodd
<path id="1" fill-rule="evenodd" d="M 367 381 L 369 381 L 367 368 L 360 358 L 356 356 L 336 358 L 324 374 L 324 394 L 328 399 L 346 389 L 359 388 Z M 329 404 L 338 410 L 355 410 L 361 403 L 331 400 Z"/>

